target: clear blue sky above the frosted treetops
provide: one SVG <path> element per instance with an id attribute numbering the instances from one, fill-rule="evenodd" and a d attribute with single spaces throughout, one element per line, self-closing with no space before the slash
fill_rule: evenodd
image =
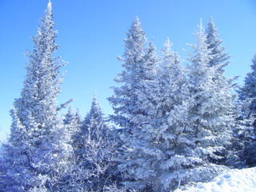
<path id="1" fill-rule="evenodd" d="M 39 18 L 47 0 L 0 0 L 0 140 L 10 132 L 9 110 L 20 96 L 26 74 L 26 50 L 33 50 L 31 37 L 37 32 Z M 226 52 L 232 56 L 226 76 L 241 75 L 242 84 L 250 72 L 256 53 L 255 0 L 52 0 L 58 55 L 69 62 L 58 102 L 74 98 L 74 109 L 85 116 L 94 90 L 103 112 L 112 112 L 106 98 L 110 86 L 122 71 L 123 39 L 130 23 L 138 15 L 147 38 L 162 49 L 170 36 L 174 50 L 184 58 L 186 43 L 194 43 L 194 30 L 202 18 L 206 26 L 210 16 L 218 26 Z"/>

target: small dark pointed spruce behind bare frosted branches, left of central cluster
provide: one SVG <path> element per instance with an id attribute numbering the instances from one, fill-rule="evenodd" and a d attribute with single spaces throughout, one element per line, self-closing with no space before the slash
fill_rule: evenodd
<path id="1" fill-rule="evenodd" d="M 78 135 L 77 157 L 68 172 L 70 183 L 64 189 L 103 191 L 115 182 L 112 173 L 116 171 L 117 142 L 103 118 L 96 94 Z"/>

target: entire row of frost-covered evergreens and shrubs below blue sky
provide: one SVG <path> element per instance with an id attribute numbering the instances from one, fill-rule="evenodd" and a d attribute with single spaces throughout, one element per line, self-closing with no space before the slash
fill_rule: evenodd
<path id="1" fill-rule="evenodd" d="M 108 118 L 96 93 L 85 118 L 71 100 L 58 106 L 66 62 L 53 56 L 56 34 L 49 2 L 10 110 L 1 191 L 174 191 L 255 166 L 256 58 L 243 86 L 226 78 L 230 55 L 213 18 L 200 22 L 184 65 L 169 38 L 158 57 L 136 17 Z"/>

